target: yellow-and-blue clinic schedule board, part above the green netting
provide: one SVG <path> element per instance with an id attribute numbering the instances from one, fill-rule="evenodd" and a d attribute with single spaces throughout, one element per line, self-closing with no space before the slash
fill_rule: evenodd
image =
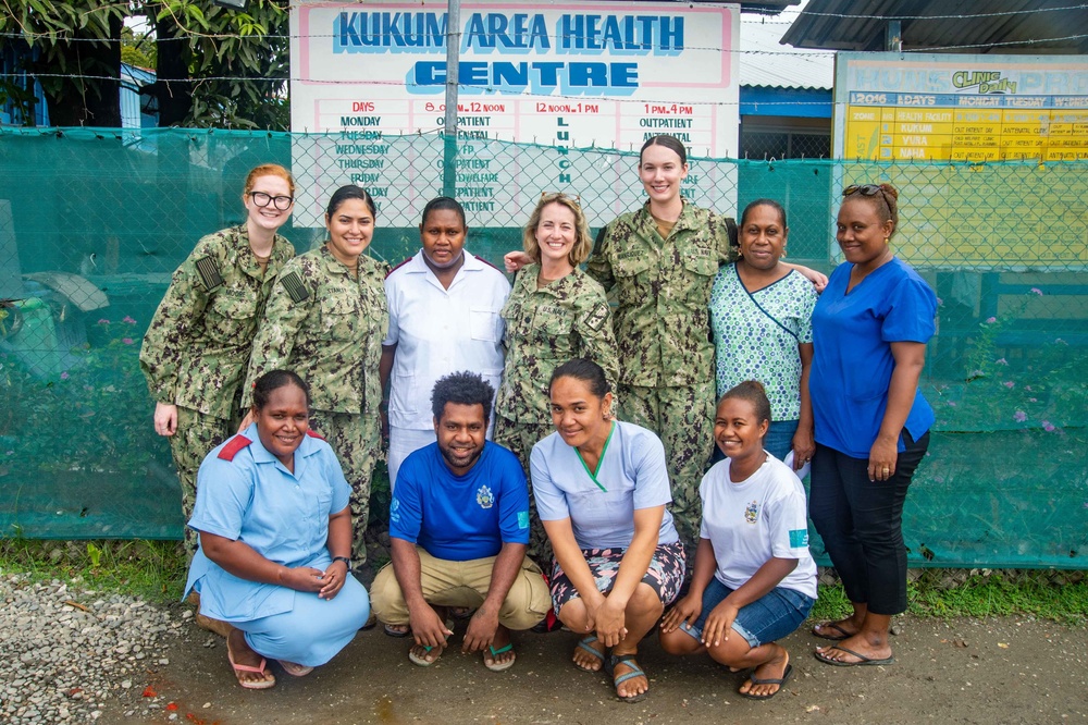
<path id="1" fill-rule="evenodd" d="M 837 156 L 1088 159 L 1088 58 L 839 53 Z"/>

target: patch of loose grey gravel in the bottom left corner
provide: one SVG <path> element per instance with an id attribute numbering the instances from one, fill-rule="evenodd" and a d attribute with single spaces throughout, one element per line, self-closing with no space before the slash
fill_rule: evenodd
<path id="1" fill-rule="evenodd" d="M 158 653 L 193 617 L 78 580 L 21 575 L 0 578 L 0 722 L 13 725 L 98 721 L 122 693 L 144 689 L 149 667 L 170 664 Z M 146 698 L 144 709 L 164 706 L 159 699 Z"/>

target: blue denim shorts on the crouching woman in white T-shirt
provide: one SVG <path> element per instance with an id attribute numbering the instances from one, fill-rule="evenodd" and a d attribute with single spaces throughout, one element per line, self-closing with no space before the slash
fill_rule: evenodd
<path id="1" fill-rule="evenodd" d="M 712 578 L 703 592 L 703 611 L 695 624 L 688 626 L 687 623 L 681 623 L 680 629 L 695 639 L 702 639 L 706 617 L 731 593 L 733 590 L 718 581 L 717 577 Z M 759 647 L 792 634 L 807 618 L 815 603 L 815 599 L 795 589 L 775 587 L 762 598 L 741 607 L 732 628 L 747 641 L 749 647 Z"/>

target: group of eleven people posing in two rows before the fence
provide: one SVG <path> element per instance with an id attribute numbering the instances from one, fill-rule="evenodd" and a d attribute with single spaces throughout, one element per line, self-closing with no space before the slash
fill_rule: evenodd
<path id="1" fill-rule="evenodd" d="M 706 652 L 767 699 L 792 672 L 776 642 L 816 598 L 808 517 L 853 603 L 813 629 L 836 640 L 816 658 L 893 661 L 936 312 L 891 250 L 898 194 L 844 191 L 827 279 L 782 261 L 781 205 L 733 224 L 681 196 L 688 170 L 679 140 L 647 140 L 646 204 L 595 244 L 577 197 L 542 195 L 512 286 L 467 253 L 447 197 L 393 270 L 364 254 L 376 208 L 357 186 L 294 257 L 276 234 L 289 173 L 250 172 L 246 222 L 178 268 L 140 355 L 182 482 L 186 592 L 225 623 L 242 686 L 274 685 L 269 659 L 324 664 L 372 606 L 420 666 L 460 615 L 462 650 L 507 669 L 510 632 L 551 612 L 621 700 L 648 691 L 638 652 L 658 627 L 667 652 Z M 392 562 L 368 595 L 383 428 Z"/>

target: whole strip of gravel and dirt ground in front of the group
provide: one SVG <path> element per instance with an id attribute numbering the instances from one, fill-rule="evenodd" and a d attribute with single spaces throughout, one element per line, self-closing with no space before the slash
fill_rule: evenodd
<path id="1" fill-rule="evenodd" d="M 897 617 L 895 664 L 829 667 L 802 627 L 782 644 L 793 677 L 768 702 L 737 695 L 740 675 L 707 658 L 640 648 L 651 697 L 616 702 L 603 675 L 570 665 L 569 632 L 515 637 L 518 663 L 490 673 L 454 647 L 433 667 L 408 642 L 360 635 L 308 677 L 272 665 L 271 690 L 243 690 L 222 638 L 165 607 L 0 575 L 0 723 L 145 725 L 409 725 L 415 723 L 721 723 L 735 725 L 1043 725 L 1088 722 L 1088 629 L 1024 616 Z"/>

